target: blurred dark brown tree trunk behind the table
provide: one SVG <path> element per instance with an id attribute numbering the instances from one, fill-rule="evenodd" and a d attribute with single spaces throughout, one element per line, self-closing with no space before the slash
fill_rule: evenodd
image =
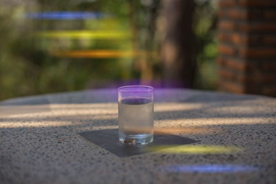
<path id="1" fill-rule="evenodd" d="M 193 0 L 164 0 L 166 34 L 161 44 L 163 85 L 192 88 L 195 79 L 195 35 Z"/>

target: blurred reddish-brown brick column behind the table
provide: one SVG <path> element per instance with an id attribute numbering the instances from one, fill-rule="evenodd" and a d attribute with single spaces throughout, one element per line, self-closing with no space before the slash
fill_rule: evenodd
<path id="1" fill-rule="evenodd" d="M 276 0 L 220 0 L 219 90 L 276 96 Z"/>

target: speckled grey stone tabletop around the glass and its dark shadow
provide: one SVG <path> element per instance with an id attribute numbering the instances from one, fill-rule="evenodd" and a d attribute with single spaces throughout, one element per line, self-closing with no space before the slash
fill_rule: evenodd
<path id="1" fill-rule="evenodd" d="M 155 128 L 196 143 L 121 158 L 79 132 L 117 128 L 115 90 L 0 103 L 0 183 L 276 183 L 276 99 L 155 90 Z"/>

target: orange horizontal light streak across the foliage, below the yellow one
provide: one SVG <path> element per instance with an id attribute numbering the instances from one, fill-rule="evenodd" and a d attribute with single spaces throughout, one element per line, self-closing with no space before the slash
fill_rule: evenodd
<path id="1" fill-rule="evenodd" d="M 133 52 L 124 50 L 75 50 L 53 52 L 55 57 L 70 57 L 70 58 L 132 58 L 137 57 L 144 52 Z"/>

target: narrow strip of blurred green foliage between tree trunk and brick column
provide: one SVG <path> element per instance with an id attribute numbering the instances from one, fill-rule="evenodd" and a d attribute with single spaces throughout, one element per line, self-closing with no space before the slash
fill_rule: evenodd
<path id="1" fill-rule="evenodd" d="M 195 88 L 215 90 L 217 88 L 217 24 L 215 1 L 197 0 L 195 10 L 195 35 L 197 39 L 197 76 Z"/>

